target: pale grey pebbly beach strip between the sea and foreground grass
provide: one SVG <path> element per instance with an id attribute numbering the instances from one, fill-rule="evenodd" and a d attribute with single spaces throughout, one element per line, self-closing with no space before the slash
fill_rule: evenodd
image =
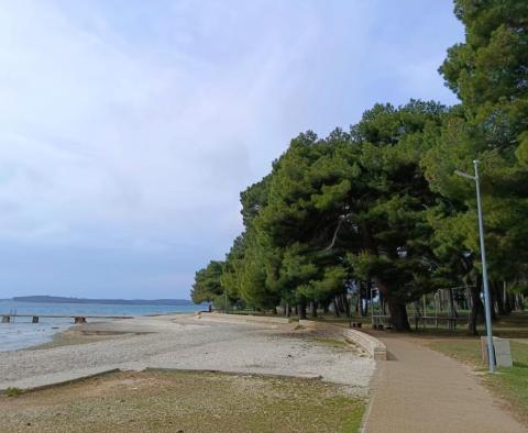
<path id="1" fill-rule="evenodd" d="M 365 392 L 374 362 L 328 343 L 294 325 L 206 321 L 187 314 L 88 323 L 46 348 L 0 353 L 0 389 L 151 367 L 321 377 Z"/>

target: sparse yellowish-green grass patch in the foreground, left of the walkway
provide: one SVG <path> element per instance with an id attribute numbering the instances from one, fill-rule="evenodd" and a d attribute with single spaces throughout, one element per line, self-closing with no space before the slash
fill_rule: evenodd
<path id="1" fill-rule="evenodd" d="M 0 397 L 2 432 L 358 432 L 365 401 L 310 379 L 116 373 Z"/>

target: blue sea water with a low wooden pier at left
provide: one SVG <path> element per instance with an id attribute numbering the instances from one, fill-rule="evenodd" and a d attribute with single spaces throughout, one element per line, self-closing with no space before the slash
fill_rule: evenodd
<path id="1" fill-rule="evenodd" d="M 206 306 L 131 306 L 102 303 L 54 303 L 0 300 L 0 317 L 18 314 L 68 314 L 68 315 L 147 315 L 163 313 L 189 313 L 205 310 Z M 91 319 L 101 321 L 102 319 Z M 90 319 L 88 319 L 90 321 Z M 18 351 L 47 343 L 53 336 L 74 325 L 72 318 L 11 318 L 10 323 L 0 323 L 0 352 Z"/>

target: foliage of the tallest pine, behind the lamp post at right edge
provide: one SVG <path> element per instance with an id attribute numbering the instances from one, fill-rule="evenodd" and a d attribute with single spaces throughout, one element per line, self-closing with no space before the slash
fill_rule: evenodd
<path id="1" fill-rule="evenodd" d="M 480 269 L 474 185 L 454 170 L 471 174 L 472 160 L 482 159 L 491 278 L 526 280 L 528 3 L 458 0 L 455 13 L 466 41 L 449 49 L 440 71 L 462 104 L 446 116 L 440 134 L 428 137 L 431 148 L 422 159 L 431 188 L 443 200 L 433 223 L 436 252 L 442 259 L 448 252 L 458 257 L 451 260 L 453 275 L 461 276 L 461 266 L 466 268 L 462 276 L 473 266 Z"/>

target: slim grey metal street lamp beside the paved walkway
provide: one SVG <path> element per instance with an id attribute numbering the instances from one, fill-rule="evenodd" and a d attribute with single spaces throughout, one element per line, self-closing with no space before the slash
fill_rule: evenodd
<path id="1" fill-rule="evenodd" d="M 475 181 L 476 208 L 479 212 L 479 236 L 481 240 L 482 279 L 484 282 L 484 309 L 486 312 L 487 359 L 490 362 L 490 373 L 495 373 L 495 351 L 493 348 L 493 330 L 492 330 L 492 302 L 490 297 L 490 287 L 487 285 L 486 248 L 484 246 L 484 222 L 482 219 L 481 185 L 479 179 L 479 159 L 474 159 L 473 165 L 475 166 L 475 176 L 471 176 L 471 175 L 468 175 L 466 173 L 462 173 L 459 170 L 454 171 L 454 174 Z"/>

